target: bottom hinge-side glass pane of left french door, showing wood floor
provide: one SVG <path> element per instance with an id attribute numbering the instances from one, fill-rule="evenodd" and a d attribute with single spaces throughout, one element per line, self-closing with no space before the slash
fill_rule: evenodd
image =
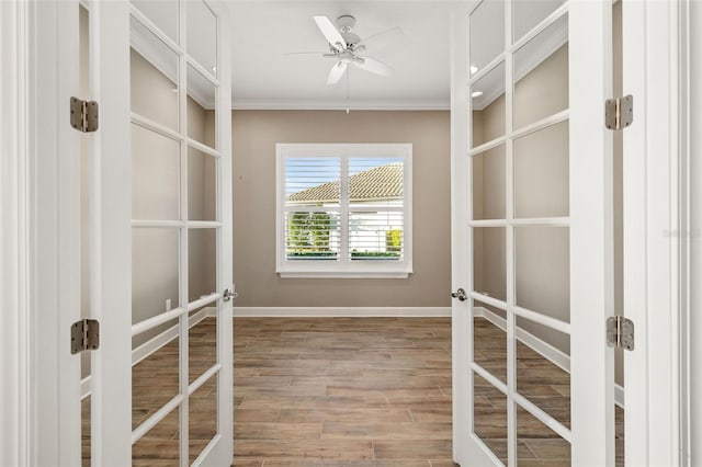
<path id="1" fill-rule="evenodd" d="M 132 445 L 132 466 L 177 466 L 180 459 L 178 409 Z"/>

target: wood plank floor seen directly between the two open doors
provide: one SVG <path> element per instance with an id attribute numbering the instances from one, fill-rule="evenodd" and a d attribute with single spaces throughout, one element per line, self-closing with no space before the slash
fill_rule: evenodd
<path id="1" fill-rule="evenodd" d="M 235 465 L 452 466 L 451 320 L 235 319 Z"/>

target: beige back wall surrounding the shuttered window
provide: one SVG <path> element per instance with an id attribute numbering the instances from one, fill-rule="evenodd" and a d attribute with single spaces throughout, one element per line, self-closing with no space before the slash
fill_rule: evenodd
<path id="1" fill-rule="evenodd" d="M 449 112 L 235 111 L 234 271 L 239 307 L 451 305 Z M 414 271 L 406 280 L 275 273 L 276 143 L 411 143 Z"/>

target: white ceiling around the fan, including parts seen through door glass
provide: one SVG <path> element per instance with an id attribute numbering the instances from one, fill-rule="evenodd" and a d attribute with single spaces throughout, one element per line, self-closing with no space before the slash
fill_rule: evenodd
<path id="1" fill-rule="evenodd" d="M 152 21 L 170 38 L 176 37 L 176 11 L 170 3 L 133 0 L 145 20 L 132 19 L 132 46 L 163 75 L 178 82 L 178 58 L 163 41 L 140 21 Z M 467 14 L 475 1 L 295 1 L 226 0 L 231 20 L 234 109 L 351 109 L 351 110 L 437 110 L 450 107 L 451 14 Z M 519 3 L 519 36 L 554 12 L 563 0 L 523 0 Z M 214 105 L 215 91 L 204 73 L 215 71 L 215 23 L 203 2 L 186 2 L 188 49 L 202 66 L 189 66 L 188 93 L 205 109 Z M 171 9 L 172 10 L 172 9 Z M 395 69 L 381 77 L 349 67 L 347 80 L 327 84 L 336 62 L 325 58 L 329 45 L 313 16 L 326 15 L 336 22 L 340 15 L 356 19 L 354 33 L 361 39 L 400 27 L 404 38 L 373 49 L 364 56 Z M 477 67 L 471 92 L 474 109 L 484 109 L 505 93 L 503 64 L 497 56 L 503 49 L 503 3 L 484 2 L 471 14 L 471 65 Z M 170 27 L 169 27 L 170 26 Z M 547 58 L 567 41 L 567 16 L 559 16 L 545 31 L 531 38 L 514 54 L 514 80 Z M 524 41 L 522 41 L 524 42 Z M 315 55 L 288 55 L 319 52 Z M 488 65 L 491 64 L 491 65 Z"/>

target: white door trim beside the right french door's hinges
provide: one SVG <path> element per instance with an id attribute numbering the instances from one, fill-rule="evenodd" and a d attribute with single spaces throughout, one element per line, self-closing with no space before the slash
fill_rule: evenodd
<path id="1" fill-rule="evenodd" d="M 623 162 L 624 315 L 636 328 L 624 356 L 631 465 L 681 462 L 680 13 L 680 2 L 623 3 L 623 93 L 634 95 Z"/>

